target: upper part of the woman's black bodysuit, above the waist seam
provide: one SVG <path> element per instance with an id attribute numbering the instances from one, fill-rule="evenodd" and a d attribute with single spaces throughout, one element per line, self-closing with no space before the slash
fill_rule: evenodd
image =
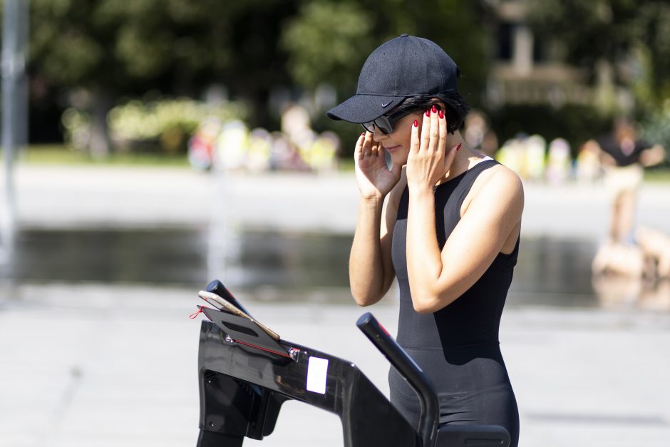
<path id="1" fill-rule="evenodd" d="M 438 185 L 435 189 L 436 233 L 440 250 L 460 220 L 460 208 L 478 175 L 497 165 L 483 160 L 465 173 Z M 414 311 L 409 289 L 406 260 L 406 232 L 409 190 L 403 191 L 393 230 L 391 255 L 400 287 L 398 343 L 406 348 L 441 348 L 449 356 L 449 347 L 474 344 L 498 344 L 500 317 L 512 269 L 517 262 L 519 242 L 505 255 L 499 253 L 483 276 L 454 302 L 432 314 Z M 455 352 L 463 352 L 458 349 Z M 458 364 L 465 359 L 449 359 Z"/>

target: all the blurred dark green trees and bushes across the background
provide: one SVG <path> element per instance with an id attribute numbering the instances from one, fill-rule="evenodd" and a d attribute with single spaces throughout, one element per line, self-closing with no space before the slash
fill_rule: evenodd
<path id="1" fill-rule="evenodd" d="M 408 33 L 442 46 L 461 69 L 459 86 L 466 101 L 483 108 L 495 4 L 31 0 L 31 95 L 41 91 L 63 110 L 74 107 L 62 119 L 73 144 L 86 144 L 87 132 L 96 129 L 91 123 L 103 122 L 110 125 L 113 142 L 153 140 L 180 150 L 200 112 L 187 116 L 190 106 L 177 100 L 162 105 L 124 100 L 114 108 L 118 98 L 143 98 L 148 91 L 200 98 L 210 86 L 223 86 L 233 102 L 247 105 L 249 127 L 273 130 L 279 125 L 269 107 L 274 91 L 284 91 L 288 98 L 282 100 L 296 100 L 329 85 L 342 101 L 355 93 L 368 54 Z M 599 59 L 610 61 L 617 83 L 635 92 L 638 115 L 647 117 L 644 125 L 660 135 L 654 129 L 661 129 L 667 117 L 661 106 L 670 97 L 670 2 L 529 0 L 527 6 L 538 36 L 560 41 L 570 62 L 593 70 Z M 78 93 L 82 90 L 86 95 Z M 307 106 L 315 130 L 335 130 L 342 138 L 342 155 L 353 152 L 359 126 L 328 120 L 325 103 Z M 108 120 L 95 119 L 110 110 Z M 491 120 L 501 143 L 524 131 L 548 139 L 567 137 L 572 145 L 606 130 L 607 121 L 592 108 L 578 106 L 558 111 L 508 106 Z"/>

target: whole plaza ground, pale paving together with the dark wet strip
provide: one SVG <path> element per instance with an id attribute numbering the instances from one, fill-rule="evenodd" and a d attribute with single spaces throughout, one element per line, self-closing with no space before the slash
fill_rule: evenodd
<path id="1" fill-rule="evenodd" d="M 346 287 L 351 175 L 21 169 L 21 230 L 0 252 L 0 446 L 194 445 L 199 324 L 187 315 L 213 277 L 285 339 L 354 361 L 388 392 Z M 646 188 L 640 222 L 670 232 L 669 193 Z M 500 335 L 520 446 L 666 445 L 670 282 L 591 277 L 601 186 L 526 196 Z M 396 296 L 365 309 L 392 332 Z M 339 421 L 289 403 L 263 445 L 341 446 Z"/>

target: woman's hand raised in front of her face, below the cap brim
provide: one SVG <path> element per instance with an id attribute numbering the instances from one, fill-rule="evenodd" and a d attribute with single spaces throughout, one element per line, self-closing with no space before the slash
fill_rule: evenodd
<path id="1" fill-rule="evenodd" d="M 356 182 L 364 199 L 381 199 L 400 180 L 402 166 L 386 165 L 386 151 L 383 145 L 373 140 L 370 132 L 361 133 L 354 150 Z"/>

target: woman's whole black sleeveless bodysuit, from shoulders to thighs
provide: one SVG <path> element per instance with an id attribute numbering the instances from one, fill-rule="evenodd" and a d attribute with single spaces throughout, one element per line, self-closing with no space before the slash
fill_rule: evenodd
<path id="1" fill-rule="evenodd" d="M 495 160 L 484 160 L 436 187 L 440 250 L 460 220 L 460 207 L 475 179 L 496 164 Z M 433 381 L 440 401 L 440 423 L 500 425 L 510 432 L 510 446 L 515 447 L 519 413 L 500 354 L 498 328 L 519 242 L 509 255 L 499 253 L 473 287 L 447 307 L 433 314 L 418 314 L 413 309 L 407 277 L 408 200 L 406 187 L 398 206 L 392 247 L 400 287 L 398 343 Z M 419 416 L 416 394 L 393 368 L 389 384 L 391 402 L 416 426 Z"/>

